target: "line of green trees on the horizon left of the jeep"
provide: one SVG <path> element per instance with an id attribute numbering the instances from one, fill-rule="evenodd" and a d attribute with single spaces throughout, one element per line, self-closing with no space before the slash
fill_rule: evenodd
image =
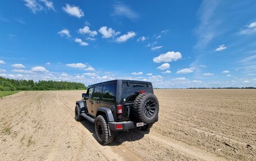
<path id="1" fill-rule="evenodd" d="M 67 81 L 45 81 L 39 80 L 14 80 L 0 77 L 0 91 L 13 90 L 74 90 L 86 89 L 86 86 L 80 82 Z"/>

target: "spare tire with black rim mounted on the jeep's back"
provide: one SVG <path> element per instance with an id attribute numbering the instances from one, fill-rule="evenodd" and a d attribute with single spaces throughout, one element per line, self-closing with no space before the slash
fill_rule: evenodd
<path id="1" fill-rule="evenodd" d="M 152 93 L 141 93 L 134 100 L 132 109 L 136 121 L 152 124 L 156 122 L 159 112 L 158 99 Z"/>

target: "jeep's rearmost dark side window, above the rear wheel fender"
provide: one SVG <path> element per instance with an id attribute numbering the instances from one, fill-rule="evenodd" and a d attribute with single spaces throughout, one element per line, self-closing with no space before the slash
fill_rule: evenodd
<path id="1" fill-rule="evenodd" d="M 102 88 L 102 100 L 113 103 L 116 99 L 116 85 L 106 84 Z"/>

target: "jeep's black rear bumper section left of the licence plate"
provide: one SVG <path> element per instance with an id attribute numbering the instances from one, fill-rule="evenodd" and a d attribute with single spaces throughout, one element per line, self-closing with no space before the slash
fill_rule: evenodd
<path id="1" fill-rule="evenodd" d="M 123 128 L 116 128 L 116 125 L 122 125 Z M 109 130 L 111 131 L 127 131 L 136 128 L 136 122 L 123 121 L 123 122 L 108 122 Z"/>

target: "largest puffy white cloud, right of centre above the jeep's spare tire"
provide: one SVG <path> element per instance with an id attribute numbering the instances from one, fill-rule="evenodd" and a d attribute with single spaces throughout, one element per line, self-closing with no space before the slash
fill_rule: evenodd
<path id="1" fill-rule="evenodd" d="M 153 62 L 161 63 L 161 62 L 172 62 L 181 59 L 180 52 L 167 52 L 165 54 L 160 54 L 158 57 L 153 58 Z"/>

